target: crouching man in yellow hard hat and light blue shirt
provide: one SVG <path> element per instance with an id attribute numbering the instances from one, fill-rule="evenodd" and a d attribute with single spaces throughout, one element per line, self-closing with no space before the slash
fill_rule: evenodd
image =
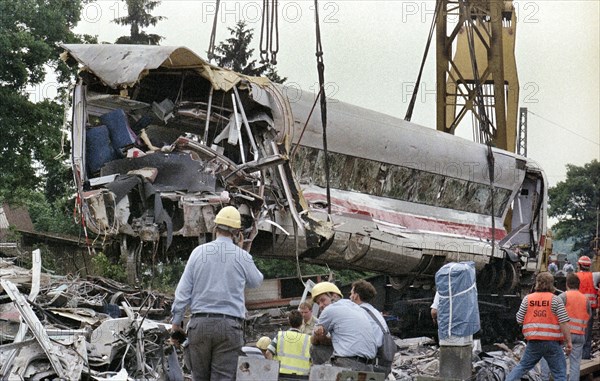
<path id="1" fill-rule="evenodd" d="M 313 364 L 323 357 L 323 348 L 333 347 L 329 362 L 355 371 L 373 370 L 377 342 L 367 312 L 356 303 L 342 298 L 331 282 L 317 283 L 311 291 L 313 302 L 321 308 L 319 322 L 311 342 Z"/>

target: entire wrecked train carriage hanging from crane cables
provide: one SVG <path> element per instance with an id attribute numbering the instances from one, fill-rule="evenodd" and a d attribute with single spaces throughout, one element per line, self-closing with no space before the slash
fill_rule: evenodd
<path id="1" fill-rule="evenodd" d="M 528 158 L 330 102 L 329 215 L 319 109 L 309 118 L 313 94 L 298 91 L 288 102 L 267 80 L 210 66 L 183 48 L 66 48 L 83 64 L 88 84 L 87 94 L 81 86 L 75 93 L 75 126 L 85 126 L 88 115 L 122 109 L 144 140 L 133 145 L 145 156 L 109 156 L 91 174 L 84 160 L 95 157 L 86 153 L 83 128 L 74 128 L 86 221 L 100 226 L 100 234 L 120 236 L 121 251 L 131 259 L 140 238 L 202 240 L 215 210 L 231 202 L 250 211 L 246 248 L 251 243 L 253 254 L 376 271 L 400 289 L 425 290 L 445 263 L 474 261 L 478 283 L 512 293 L 523 275 L 539 268 L 547 182 Z M 137 147 L 131 156 L 139 154 Z M 178 155 L 195 167 L 171 166 Z M 127 174 L 150 195 L 130 190 L 121 198 L 119 183 Z M 188 188 L 182 180 L 199 186 Z"/>

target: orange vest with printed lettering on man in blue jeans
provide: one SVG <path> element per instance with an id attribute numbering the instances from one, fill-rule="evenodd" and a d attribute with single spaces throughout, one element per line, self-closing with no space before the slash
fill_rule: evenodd
<path id="1" fill-rule="evenodd" d="M 527 340 L 563 340 L 558 317 L 552 313 L 551 292 L 527 295 L 527 312 L 523 320 L 523 335 Z"/>

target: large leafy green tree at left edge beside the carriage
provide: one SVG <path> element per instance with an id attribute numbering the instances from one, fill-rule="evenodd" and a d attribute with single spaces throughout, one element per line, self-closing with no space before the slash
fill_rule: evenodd
<path id="1" fill-rule="evenodd" d="M 60 152 L 64 106 L 36 102 L 27 88 L 54 71 L 59 85 L 72 72 L 60 60 L 61 43 L 81 42 L 72 32 L 82 3 L 72 0 L 0 1 L 0 199 L 22 201 L 66 173 Z M 89 36 L 85 37 L 89 39 Z M 59 87 L 64 95 L 65 87 Z M 40 96 L 36 93 L 35 96 Z M 60 170 L 59 170 L 60 169 Z M 55 187 L 50 193 L 64 192 Z"/>

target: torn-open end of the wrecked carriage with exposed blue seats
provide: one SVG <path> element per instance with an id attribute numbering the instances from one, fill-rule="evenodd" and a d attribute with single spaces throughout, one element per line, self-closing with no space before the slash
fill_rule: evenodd
<path id="1" fill-rule="evenodd" d="M 80 67 L 72 102 L 78 207 L 89 230 L 118 238 L 129 273 L 144 246 L 189 254 L 225 205 L 243 215 L 247 250 L 275 212 L 293 213 L 301 229 L 310 220 L 287 167 L 290 106 L 268 79 L 186 48 L 63 47 L 64 60 Z"/>

